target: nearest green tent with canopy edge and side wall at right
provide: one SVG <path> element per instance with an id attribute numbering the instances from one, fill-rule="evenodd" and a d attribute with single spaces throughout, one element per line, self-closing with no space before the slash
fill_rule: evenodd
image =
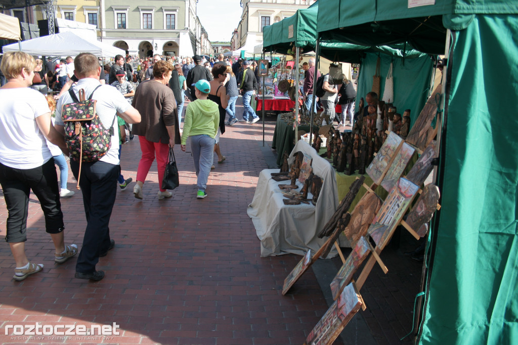
<path id="1" fill-rule="evenodd" d="M 329 0 L 319 35 L 446 52 L 420 344 L 518 343 L 518 3 Z M 395 75 L 396 78 L 396 75 Z M 442 122 L 441 122 L 442 120 Z"/>

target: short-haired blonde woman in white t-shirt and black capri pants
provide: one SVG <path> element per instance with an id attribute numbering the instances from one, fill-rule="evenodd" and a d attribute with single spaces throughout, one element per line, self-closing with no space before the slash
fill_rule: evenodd
<path id="1" fill-rule="evenodd" d="M 39 272 L 42 264 L 25 256 L 29 194 L 38 198 L 45 227 L 52 237 L 56 263 L 77 254 L 76 245 L 65 246 L 63 213 L 57 174 L 46 138 L 68 153 L 65 141 L 50 122 L 45 97 L 29 88 L 36 62 L 31 55 L 14 51 L 4 54 L 0 69 L 7 83 L 0 88 L 0 184 L 8 210 L 6 241 L 16 261 L 15 280 Z"/>

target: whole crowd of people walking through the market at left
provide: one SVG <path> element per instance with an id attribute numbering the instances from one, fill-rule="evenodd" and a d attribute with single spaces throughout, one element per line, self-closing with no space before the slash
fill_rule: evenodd
<path id="1" fill-rule="evenodd" d="M 0 70 L 6 78 L 0 88 L 0 184 L 8 210 L 6 241 L 16 262 L 13 279 L 17 281 L 43 268 L 25 254 L 31 190 L 44 212 L 46 231 L 55 247 L 54 261 L 63 264 L 78 254 L 75 277 L 101 280 L 105 274 L 96 269 L 96 264 L 115 246 L 109 220 L 117 189 L 124 191 L 133 182 L 133 178 L 121 174 L 122 146 L 138 136 L 141 158 L 133 193 L 143 199 L 153 161 L 162 181 L 169 150 L 180 145 L 185 151 L 189 141 L 198 177 L 196 198 L 203 199 L 208 195 L 214 153 L 218 163 L 226 160 L 219 142 L 225 125 L 238 121 L 235 104 L 239 93 L 246 109 L 241 121 L 258 121 L 250 107 L 250 98 L 257 90 L 250 62 L 232 64 L 223 55 L 209 61 L 199 55 L 182 60 L 154 55 L 140 59 L 133 68 L 130 56 L 117 55 L 112 65 L 100 66 L 96 56 L 81 53 L 56 65 L 49 59 L 44 68 L 42 60 L 24 52 L 8 52 Z M 49 93 L 53 88 L 54 96 Z M 89 104 L 95 106 L 80 108 Z M 78 129 L 69 109 L 95 109 L 92 121 L 98 122 Z M 106 140 L 102 154 L 85 149 L 84 145 L 95 145 L 91 142 L 75 144 L 71 139 L 78 133 L 86 135 L 85 131 L 97 131 L 94 135 Z M 77 147 L 79 159 L 74 152 Z M 87 219 L 80 249 L 64 241 L 60 198 L 75 194 L 67 189 L 67 161 L 82 192 Z M 60 170 L 59 182 L 55 165 Z M 172 196 L 161 187 L 158 199 Z"/>

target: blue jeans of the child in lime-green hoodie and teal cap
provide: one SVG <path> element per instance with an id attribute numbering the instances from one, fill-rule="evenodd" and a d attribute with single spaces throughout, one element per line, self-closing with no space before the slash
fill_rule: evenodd
<path id="1" fill-rule="evenodd" d="M 214 162 L 214 143 L 213 138 L 207 134 L 193 135 L 189 137 L 191 142 L 191 152 L 193 155 L 194 169 L 198 177 L 197 186 L 199 191 L 207 189 L 210 167 Z"/>

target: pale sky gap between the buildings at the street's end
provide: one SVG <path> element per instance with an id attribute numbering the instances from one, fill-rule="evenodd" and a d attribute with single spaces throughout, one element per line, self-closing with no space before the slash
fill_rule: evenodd
<path id="1" fill-rule="evenodd" d="M 239 0 L 199 0 L 197 12 L 211 42 L 229 42 L 241 20 L 243 9 Z"/>

